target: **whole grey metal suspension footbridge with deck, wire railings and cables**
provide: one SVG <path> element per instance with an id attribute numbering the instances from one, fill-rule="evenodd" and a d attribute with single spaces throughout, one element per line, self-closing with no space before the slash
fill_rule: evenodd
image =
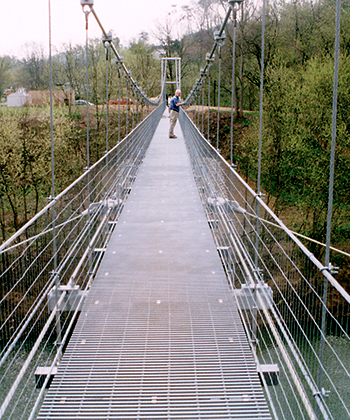
<path id="1" fill-rule="evenodd" d="M 166 71 L 155 103 L 81 3 L 155 107 L 0 246 L 0 417 L 350 418 L 350 296 L 333 267 L 185 111 L 168 138 Z"/>

